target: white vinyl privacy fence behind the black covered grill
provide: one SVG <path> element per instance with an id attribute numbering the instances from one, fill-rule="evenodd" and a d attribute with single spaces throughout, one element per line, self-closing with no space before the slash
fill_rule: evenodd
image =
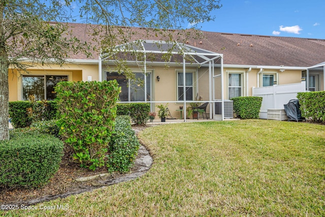
<path id="1" fill-rule="evenodd" d="M 284 109 L 284 104 L 297 99 L 298 92 L 306 92 L 306 81 L 295 84 L 252 87 L 252 96 L 263 97 L 259 118 L 268 118 L 268 109 Z"/>

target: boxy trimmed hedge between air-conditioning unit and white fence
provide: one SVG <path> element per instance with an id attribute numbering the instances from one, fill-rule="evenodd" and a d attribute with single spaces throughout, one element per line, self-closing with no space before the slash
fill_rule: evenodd
<path id="1" fill-rule="evenodd" d="M 258 119 L 262 106 L 262 97 L 235 97 L 234 112 L 241 119 Z"/>

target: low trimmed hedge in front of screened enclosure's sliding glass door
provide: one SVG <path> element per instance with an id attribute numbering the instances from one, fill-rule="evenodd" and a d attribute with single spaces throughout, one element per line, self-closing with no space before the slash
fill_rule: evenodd
<path id="1" fill-rule="evenodd" d="M 117 115 L 129 115 L 136 125 L 146 125 L 149 119 L 150 103 L 119 103 Z"/>

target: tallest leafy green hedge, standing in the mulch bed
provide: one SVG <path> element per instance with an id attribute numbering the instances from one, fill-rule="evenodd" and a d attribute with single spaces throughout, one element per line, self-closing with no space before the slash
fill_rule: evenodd
<path id="1" fill-rule="evenodd" d="M 117 81 L 63 81 L 55 91 L 59 134 L 73 147 L 74 160 L 92 170 L 105 166 L 120 92 Z"/>

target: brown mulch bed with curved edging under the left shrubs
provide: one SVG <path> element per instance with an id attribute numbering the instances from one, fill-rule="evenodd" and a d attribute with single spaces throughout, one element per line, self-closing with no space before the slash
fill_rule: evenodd
<path id="1" fill-rule="evenodd" d="M 145 127 L 136 128 L 136 132 Z M 96 188 L 110 185 L 103 183 L 103 178 L 93 179 L 91 181 L 78 182 L 75 179 L 79 177 L 88 177 L 98 174 L 107 173 L 107 169 L 101 168 L 91 171 L 89 169 L 81 168 L 79 164 L 72 161 L 71 150 L 64 150 L 65 154 L 62 158 L 58 172 L 49 180 L 43 187 L 36 189 L 23 188 L 1 188 L 0 187 L 0 204 L 24 204 L 31 205 L 42 201 L 48 201 L 56 198 L 67 197 L 82 192 L 92 191 Z M 137 158 L 140 158 L 139 156 Z M 134 164 L 130 173 L 137 172 L 139 165 Z M 105 179 L 114 180 L 127 174 L 112 173 Z"/>

